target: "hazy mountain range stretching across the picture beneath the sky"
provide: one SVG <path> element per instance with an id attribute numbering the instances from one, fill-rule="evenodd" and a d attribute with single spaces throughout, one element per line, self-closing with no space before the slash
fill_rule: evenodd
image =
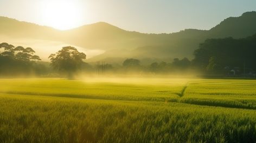
<path id="1" fill-rule="evenodd" d="M 60 31 L 47 26 L 0 17 L 0 35 L 8 36 L 10 39 L 51 40 L 85 49 L 105 51 L 101 55 L 88 59 L 89 62 L 106 60 L 106 62 L 120 63 L 125 58 L 147 59 L 150 62 L 152 59 L 172 60 L 183 57 L 191 59 L 194 50 L 208 38 L 245 38 L 255 33 L 255 11 L 245 12 L 239 17 L 229 17 L 210 30 L 186 29 L 169 34 L 126 31 L 104 22 Z"/>

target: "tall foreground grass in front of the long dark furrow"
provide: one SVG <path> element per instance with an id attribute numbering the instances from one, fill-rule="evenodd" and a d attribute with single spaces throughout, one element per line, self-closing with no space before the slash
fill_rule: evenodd
<path id="1" fill-rule="evenodd" d="M 254 110 L 0 96 L 0 142 L 255 142 Z"/>

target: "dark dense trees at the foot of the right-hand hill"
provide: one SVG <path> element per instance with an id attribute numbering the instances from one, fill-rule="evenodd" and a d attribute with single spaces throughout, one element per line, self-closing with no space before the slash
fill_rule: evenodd
<path id="1" fill-rule="evenodd" d="M 256 35 L 242 39 L 208 39 L 195 50 L 193 63 L 208 73 L 249 74 L 256 71 L 255 54 Z"/>

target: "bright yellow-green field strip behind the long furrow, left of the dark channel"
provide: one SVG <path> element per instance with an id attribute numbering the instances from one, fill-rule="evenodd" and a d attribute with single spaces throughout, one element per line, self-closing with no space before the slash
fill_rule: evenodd
<path id="1" fill-rule="evenodd" d="M 113 81 L 112 81 L 113 80 Z M 65 80 L 7 79 L 0 80 L 0 93 L 88 99 L 176 101 L 185 81 L 152 79 Z"/>

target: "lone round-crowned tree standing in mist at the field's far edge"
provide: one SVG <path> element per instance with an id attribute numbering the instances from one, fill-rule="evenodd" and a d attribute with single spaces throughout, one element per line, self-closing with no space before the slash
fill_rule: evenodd
<path id="1" fill-rule="evenodd" d="M 55 70 L 68 74 L 70 78 L 73 77 L 73 73 L 81 69 L 81 65 L 86 59 L 85 53 L 79 52 L 75 47 L 66 46 L 55 54 L 49 56 L 51 65 Z"/>

